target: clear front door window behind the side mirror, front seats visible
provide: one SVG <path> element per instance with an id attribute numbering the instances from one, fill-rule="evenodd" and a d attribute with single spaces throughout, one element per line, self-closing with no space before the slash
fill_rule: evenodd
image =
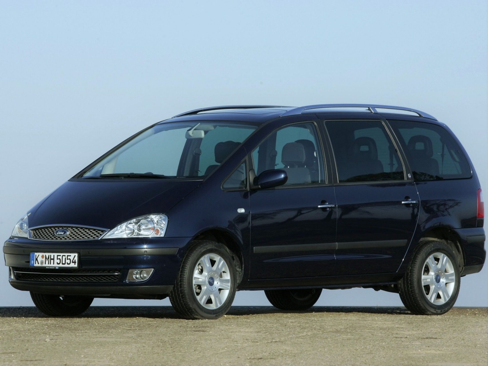
<path id="1" fill-rule="evenodd" d="M 285 185 L 324 183 L 324 163 L 314 123 L 282 127 L 252 152 L 256 175 L 264 170 L 284 169 Z"/>

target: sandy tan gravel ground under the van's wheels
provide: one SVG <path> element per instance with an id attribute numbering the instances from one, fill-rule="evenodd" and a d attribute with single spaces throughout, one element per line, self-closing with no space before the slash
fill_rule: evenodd
<path id="1" fill-rule="evenodd" d="M 216 321 L 171 307 L 92 307 L 76 318 L 0 308 L 0 365 L 488 365 L 488 308 L 233 307 Z"/>

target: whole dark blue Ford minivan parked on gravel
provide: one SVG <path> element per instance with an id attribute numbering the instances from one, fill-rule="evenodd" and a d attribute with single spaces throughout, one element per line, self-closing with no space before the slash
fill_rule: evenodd
<path id="1" fill-rule="evenodd" d="M 214 319 L 236 290 L 305 310 L 324 288 L 443 314 L 486 257 L 484 203 L 444 123 L 396 106 L 202 108 L 125 140 L 31 208 L 3 253 L 51 316 L 163 299 Z"/>

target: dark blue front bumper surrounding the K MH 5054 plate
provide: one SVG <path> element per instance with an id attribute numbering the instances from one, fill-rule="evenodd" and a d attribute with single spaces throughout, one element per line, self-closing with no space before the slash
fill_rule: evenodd
<path id="1" fill-rule="evenodd" d="M 149 238 L 142 240 L 113 239 L 85 242 L 38 241 L 10 238 L 3 246 L 5 264 L 10 267 L 9 282 L 14 288 L 37 293 L 84 295 L 126 299 L 161 299 L 171 291 L 183 259 L 184 249 L 192 238 Z M 32 272 L 31 252 L 79 253 L 78 271 L 110 270 L 119 273 L 110 280 L 86 281 L 83 276 L 61 276 L 62 280 L 46 279 L 38 274 L 24 277 L 19 272 Z M 145 281 L 127 282 L 130 268 L 154 268 Z M 57 272 L 58 271 L 58 272 Z M 37 272 L 46 272 L 40 269 Z M 50 268 L 55 278 L 68 273 L 63 268 Z M 66 279 L 68 277 L 69 279 Z"/>

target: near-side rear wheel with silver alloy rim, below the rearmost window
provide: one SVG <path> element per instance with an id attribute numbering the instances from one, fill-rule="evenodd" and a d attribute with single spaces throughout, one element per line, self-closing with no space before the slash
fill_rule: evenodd
<path id="1" fill-rule="evenodd" d="M 427 241 L 413 254 L 398 282 L 400 299 L 414 314 L 441 315 L 459 294 L 461 276 L 457 255 L 446 243 Z"/>

